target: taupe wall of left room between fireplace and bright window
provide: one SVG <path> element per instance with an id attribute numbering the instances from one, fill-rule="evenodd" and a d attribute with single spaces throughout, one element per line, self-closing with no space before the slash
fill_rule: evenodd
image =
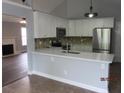
<path id="1" fill-rule="evenodd" d="M 2 22 L 2 38 L 15 39 L 17 53 L 24 52 L 27 49 L 27 47 L 22 46 L 21 27 L 25 26 L 15 22 Z"/>

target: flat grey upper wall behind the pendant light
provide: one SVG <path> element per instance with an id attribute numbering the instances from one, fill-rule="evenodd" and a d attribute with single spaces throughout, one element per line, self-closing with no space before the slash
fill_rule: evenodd
<path id="1" fill-rule="evenodd" d="M 67 16 L 69 18 L 84 18 L 89 12 L 90 0 L 68 0 Z M 76 7 L 74 7 L 76 6 Z M 93 0 L 93 11 L 98 17 L 121 16 L 121 0 Z"/>

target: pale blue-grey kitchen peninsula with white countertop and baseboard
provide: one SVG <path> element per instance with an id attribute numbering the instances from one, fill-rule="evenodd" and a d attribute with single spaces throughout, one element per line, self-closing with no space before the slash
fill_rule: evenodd
<path id="1" fill-rule="evenodd" d="M 109 64 L 113 54 L 80 52 L 63 53 L 60 48 L 43 48 L 32 52 L 32 74 L 108 93 Z M 105 80 L 103 80 L 105 79 Z"/>

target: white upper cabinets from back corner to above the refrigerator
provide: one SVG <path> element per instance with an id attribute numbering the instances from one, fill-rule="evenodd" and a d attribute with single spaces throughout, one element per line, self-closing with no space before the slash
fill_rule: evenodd
<path id="1" fill-rule="evenodd" d="M 114 27 L 114 18 L 69 20 L 68 36 L 93 36 L 97 27 Z"/>

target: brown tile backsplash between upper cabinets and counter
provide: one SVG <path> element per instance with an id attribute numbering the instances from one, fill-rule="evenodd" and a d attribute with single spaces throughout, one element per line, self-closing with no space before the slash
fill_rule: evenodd
<path id="1" fill-rule="evenodd" d="M 52 41 L 56 38 L 35 38 L 35 49 L 50 48 Z M 69 43 L 71 50 L 75 51 L 92 51 L 92 37 L 65 37 L 59 39 L 62 45 Z"/>

